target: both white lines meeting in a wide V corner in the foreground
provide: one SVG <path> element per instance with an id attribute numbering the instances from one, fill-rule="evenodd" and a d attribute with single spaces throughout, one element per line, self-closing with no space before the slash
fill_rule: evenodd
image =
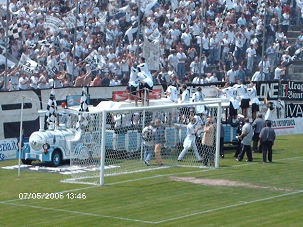
<path id="1" fill-rule="evenodd" d="M 252 201 L 248 201 L 248 202 L 241 201 L 240 203 L 236 203 L 236 204 L 233 204 L 233 205 L 222 206 L 222 207 L 218 207 L 218 208 L 215 208 L 215 209 L 199 211 L 199 212 L 195 212 L 195 213 L 191 213 L 191 214 L 187 214 L 187 215 L 182 215 L 182 216 L 178 216 L 178 217 L 163 219 L 163 220 L 160 220 L 160 221 L 145 221 L 145 220 L 139 220 L 139 219 L 133 219 L 133 218 L 115 217 L 115 216 L 110 216 L 110 215 L 100 215 L 100 214 L 86 213 L 86 212 L 80 212 L 80 211 L 74 211 L 74 210 L 56 209 L 56 208 L 51 208 L 51 207 L 42 207 L 42 206 L 34 206 L 34 205 L 26 205 L 26 204 L 16 204 L 16 203 L 11 203 L 11 202 L 0 202 L 0 203 L 7 204 L 7 205 L 13 205 L 13 206 L 23 206 L 23 207 L 30 207 L 30 208 L 36 208 L 36 209 L 54 210 L 54 211 L 75 213 L 75 214 L 81 214 L 81 215 L 87 215 L 87 216 L 113 218 L 113 219 L 128 220 L 128 221 L 135 221 L 135 222 L 142 222 L 142 223 L 150 223 L 150 224 L 160 224 L 160 223 L 163 223 L 163 222 L 173 221 L 173 220 L 177 220 L 177 219 L 181 219 L 181 218 L 185 218 L 185 217 L 194 216 L 194 215 L 197 215 L 197 214 L 209 213 L 209 212 L 212 212 L 212 211 L 217 211 L 217 210 L 222 210 L 222 209 L 226 209 L 226 208 L 246 205 L 246 204 L 250 204 L 250 203 L 262 202 L 262 201 L 275 199 L 275 198 L 279 198 L 279 197 L 284 197 L 284 196 L 288 196 L 288 195 L 294 195 L 294 194 L 298 194 L 298 193 L 302 193 L 302 192 L 303 192 L 303 190 L 300 190 L 300 191 L 296 191 L 296 192 L 285 193 L 285 194 L 282 194 L 282 195 L 271 196 L 271 197 L 252 200 Z"/>

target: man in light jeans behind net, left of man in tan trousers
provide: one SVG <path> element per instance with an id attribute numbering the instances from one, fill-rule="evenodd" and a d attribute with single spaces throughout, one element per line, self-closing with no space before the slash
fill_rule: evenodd
<path id="1" fill-rule="evenodd" d="M 143 148 L 144 148 L 144 163 L 146 165 L 149 164 L 150 158 L 153 156 L 154 152 L 154 122 L 150 121 L 149 126 L 146 126 L 142 130 L 142 138 L 143 138 Z"/>

